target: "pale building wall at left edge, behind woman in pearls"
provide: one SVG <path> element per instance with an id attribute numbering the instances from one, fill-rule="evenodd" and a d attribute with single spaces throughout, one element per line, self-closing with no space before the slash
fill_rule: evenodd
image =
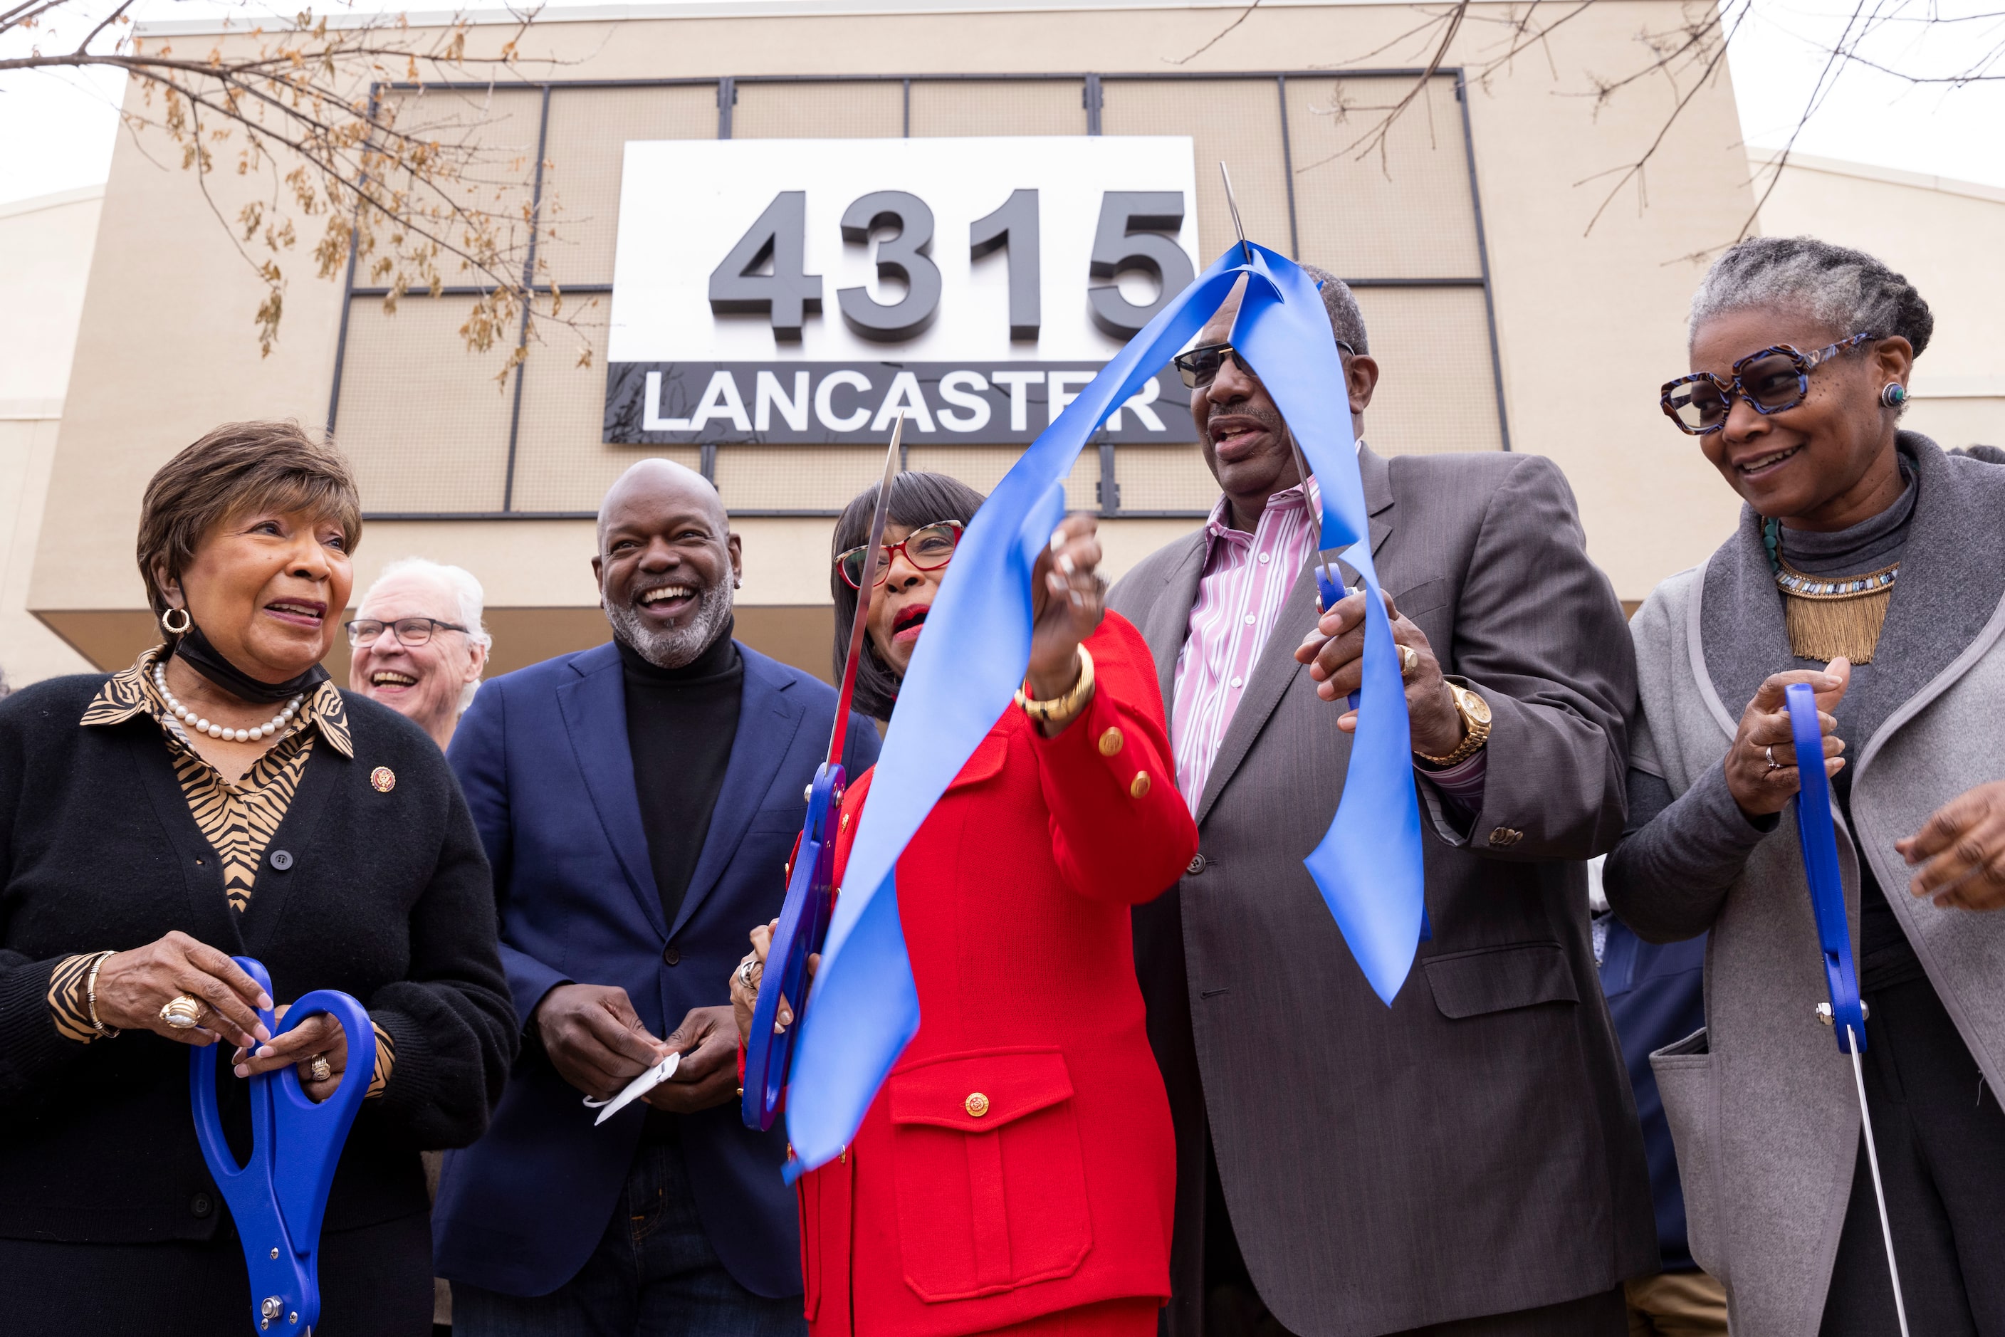
<path id="1" fill-rule="evenodd" d="M 28 613 L 28 575 L 102 198 L 86 186 L 0 204 L 0 674 L 16 688 L 90 670 Z"/>

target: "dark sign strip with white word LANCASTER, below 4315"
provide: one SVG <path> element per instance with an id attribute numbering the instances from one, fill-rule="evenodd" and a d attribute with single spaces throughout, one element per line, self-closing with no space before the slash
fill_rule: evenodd
<path id="1" fill-rule="evenodd" d="M 620 363 L 606 383 L 606 439 L 640 445 L 882 437 L 1019 445 L 1065 413 L 1099 363 Z M 1115 409 L 1115 443 L 1197 441 L 1175 371 Z"/>

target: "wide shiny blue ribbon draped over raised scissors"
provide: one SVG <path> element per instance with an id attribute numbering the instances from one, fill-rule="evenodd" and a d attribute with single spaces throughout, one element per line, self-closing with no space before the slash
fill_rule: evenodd
<path id="1" fill-rule="evenodd" d="M 976 513 L 946 567 L 898 690 L 870 802 L 802 1008 L 788 1082 L 788 1179 L 832 1161 L 918 1032 L 918 990 L 898 926 L 896 862 L 934 802 L 1009 708 L 1031 661 L 1031 571 L 1065 515 L 1065 479 L 1099 425 L 1183 349 L 1249 279 L 1233 345 L 1259 369 L 1321 495 L 1321 547 L 1363 575 L 1363 704 L 1343 802 L 1305 862 L 1371 988 L 1391 1002 L 1422 920 L 1420 812 L 1406 690 L 1379 597 L 1349 403 L 1315 283 L 1265 247 L 1233 245 L 1081 391 Z"/>

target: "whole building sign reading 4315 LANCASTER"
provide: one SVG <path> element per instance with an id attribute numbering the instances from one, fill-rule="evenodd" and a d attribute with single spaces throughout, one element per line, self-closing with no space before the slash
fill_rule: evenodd
<path id="1" fill-rule="evenodd" d="M 1029 443 L 1197 273 L 1189 138 L 632 140 L 610 443 Z M 1195 441 L 1175 369 L 1115 443 Z"/>

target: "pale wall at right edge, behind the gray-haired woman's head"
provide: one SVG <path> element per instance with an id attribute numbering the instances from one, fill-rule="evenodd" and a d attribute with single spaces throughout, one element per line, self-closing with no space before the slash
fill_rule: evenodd
<path id="1" fill-rule="evenodd" d="M 1774 180 L 1776 158 L 1748 150 L 1756 190 Z M 2005 447 L 2005 190 L 1798 152 L 1762 202 L 1760 229 L 1857 247 L 1907 275 L 1935 335 L 1915 363 L 1905 425 L 1943 449 Z"/>

